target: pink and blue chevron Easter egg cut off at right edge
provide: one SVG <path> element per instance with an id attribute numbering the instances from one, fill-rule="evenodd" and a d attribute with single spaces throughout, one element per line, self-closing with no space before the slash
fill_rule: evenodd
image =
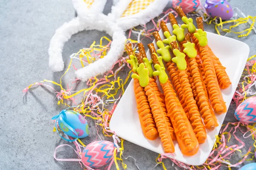
<path id="1" fill-rule="evenodd" d="M 256 123 L 256 96 L 241 102 L 236 108 L 235 117 L 243 123 Z"/>

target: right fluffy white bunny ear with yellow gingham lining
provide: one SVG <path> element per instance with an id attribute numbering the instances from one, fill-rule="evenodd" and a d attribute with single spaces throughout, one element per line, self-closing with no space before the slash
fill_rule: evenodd
<path id="1" fill-rule="evenodd" d="M 132 0 L 117 23 L 124 30 L 143 25 L 161 14 L 168 2 L 169 0 Z M 118 5 L 115 10 L 118 10 Z"/>

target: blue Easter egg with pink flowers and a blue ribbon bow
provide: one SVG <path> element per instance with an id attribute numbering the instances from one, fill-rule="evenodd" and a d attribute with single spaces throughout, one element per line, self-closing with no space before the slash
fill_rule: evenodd
<path id="1" fill-rule="evenodd" d="M 58 116 L 58 126 L 63 133 L 73 138 L 85 138 L 89 135 L 86 119 L 75 111 L 61 111 Z"/>

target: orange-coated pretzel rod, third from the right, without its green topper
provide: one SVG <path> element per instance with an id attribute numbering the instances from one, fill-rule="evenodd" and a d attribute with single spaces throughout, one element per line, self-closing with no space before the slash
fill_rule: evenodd
<path id="1" fill-rule="evenodd" d="M 186 41 L 191 42 L 190 36 L 186 34 Z M 213 130 L 218 126 L 218 121 L 215 114 L 212 111 L 212 107 L 209 104 L 209 99 L 207 96 L 207 90 L 204 88 L 204 82 L 201 79 L 200 71 L 198 68 L 198 64 L 195 58 L 188 57 L 189 70 L 192 75 L 192 79 L 196 88 L 197 99 L 196 102 L 199 105 L 199 109 L 201 111 L 202 117 L 204 119 L 204 125 L 207 129 Z"/>

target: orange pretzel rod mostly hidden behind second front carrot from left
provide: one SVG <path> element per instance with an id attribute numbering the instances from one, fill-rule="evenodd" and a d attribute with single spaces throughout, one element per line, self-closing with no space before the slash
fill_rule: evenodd
<path id="1" fill-rule="evenodd" d="M 143 58 L 147 58 L 147 56 L 145 54 L 144 45 L 142 43 L 138 43 L 138 47 L 139 47 L 140 54 L 143 54 L 142 57 Z M 166 122 L 167 122 L 167 125 L 168 125 L 168 128 L 169 128 L 172 140 L 177 140 L 176 136 L 175 136 L 175 133 L 174 133 L 174 129 L 173 129 L 172 124 L 171 124 L 171 121 L 169 120 L 169 118 L 167 116 L 167 110 L 166 110 L 164 95 L 161 93 L 160 89 L 157 86 L 156 77 L 149 78 L 149 81 L 151 82 L 151 85 L 154 88 L 154 91 L 157 94 L 157 98 L 158 98 L 158 100 L 160 102 L 160 105 L 161 105 L 161 107 L 163 109 L 163 113 L 165 115 Z"/>

